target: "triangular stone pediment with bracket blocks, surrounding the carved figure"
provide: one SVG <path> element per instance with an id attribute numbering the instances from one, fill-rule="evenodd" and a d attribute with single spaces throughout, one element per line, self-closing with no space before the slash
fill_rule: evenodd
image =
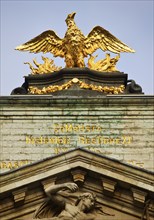
<path id="1" fill-rule="evenodd" d="M 100 220 L 151 220 L 154 216 L 152 172 L 80 148 L 1 174 L 0 179 L 2 220 L 33 219 L 47 198 L 46 189 L 68 182 L 78 185 L 77 193 L 96 195 L 104 213 Z"/>

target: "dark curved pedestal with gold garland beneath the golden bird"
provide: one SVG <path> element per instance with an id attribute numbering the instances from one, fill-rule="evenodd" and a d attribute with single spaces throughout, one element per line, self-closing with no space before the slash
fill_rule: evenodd
<path id="1" fill-rule="evenodd" d="M 142 88 L 123 72 L 100 72 L 89 68 L 63 68 L 47 74 L 29 74 L 11 95 L 98 97 L 105 94 L 143 94 Z"/>

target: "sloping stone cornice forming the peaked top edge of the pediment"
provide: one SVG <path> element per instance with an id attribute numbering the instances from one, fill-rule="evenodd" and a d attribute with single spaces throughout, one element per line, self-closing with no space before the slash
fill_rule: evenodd
<path id="1" fill-rule="evenodd" d="M 5 193 L 24 187 L 77 167 L 96 173 L 100 179 L 102 177 L 111 178 L 113 181 L 118 180 L 129 184 L 131 187 L 135 186 L 151 192 L 154 189 L 152 172 L 129 166 L 118 160 L 87 150 L 76 149 L 2 174 L 0 176 L 0 192 Z"/>

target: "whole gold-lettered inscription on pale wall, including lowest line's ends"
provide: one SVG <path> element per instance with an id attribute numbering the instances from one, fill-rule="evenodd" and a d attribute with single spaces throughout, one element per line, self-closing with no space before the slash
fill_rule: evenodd
<path id="1" fill-rule="evenodd" d="M 40 135 L 39 135 L 40 134 Z M 48 145 L 49 154 L 59 154 L 75 147 L 83 147 L 98 154 L 107 154 L 108 147 L 128 146 L 133 142 L 131 136 L 114 134 L 107 125 L 94 123 L 54 123 L 50 127 L 50 133 L 39 131 L 38 135 L 25 136 L 25 143 L 29 147 Z M 36 148 L 37 149 L 37 148 Z M 32 161 L 0 161 L 0 169 L 16 169 Z M 143 167 L 143 163 L 128 161 L 128 163 Z"/>

